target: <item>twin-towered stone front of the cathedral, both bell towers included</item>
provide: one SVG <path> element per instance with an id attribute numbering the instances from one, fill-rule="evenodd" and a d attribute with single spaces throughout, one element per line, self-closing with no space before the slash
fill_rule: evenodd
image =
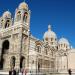
<path id="1" fill-rule="evenodd" d="M 25 2 L 16 9 L 14 21 L 9 11 L 4 12 L 0 18 L 0 69 L 28 67 L 29 34 L 30 10 Z"/>

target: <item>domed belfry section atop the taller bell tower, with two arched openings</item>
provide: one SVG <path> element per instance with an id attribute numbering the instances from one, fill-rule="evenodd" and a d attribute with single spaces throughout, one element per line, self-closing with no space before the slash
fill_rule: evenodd
<path id="1" fill-rule="evenodd" d="M 14 25 L 23 25 L 27 29 L 30 28 L 30 10 L 25 2 L 20 3 L 15 10 Z"/>

